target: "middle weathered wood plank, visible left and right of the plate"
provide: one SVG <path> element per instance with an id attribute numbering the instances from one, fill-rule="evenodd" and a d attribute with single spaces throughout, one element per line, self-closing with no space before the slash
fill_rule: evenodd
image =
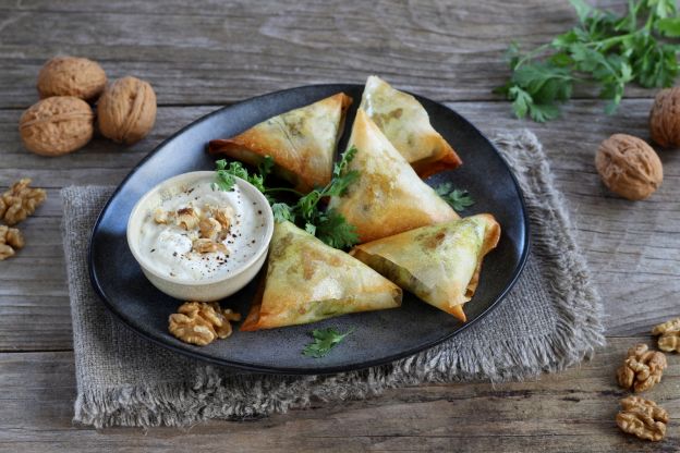
<path id="1" fill-rule="evenodd" d="M 680 315 L 676 296 L 680 289 L 680 205 L 677 203 L 680 154 L 660 152 L 665 183 L 643 203 L 626 201 L 608 194 L 593 168 L 595 149 L 609 134 L 626 131 L 647 137 L 648 100 L 627 100 L 621 113 L 615 117 L 602 115 L 594 101 L 576 101 L 567 111 L 569 120 L 548 125 L 517 121 L 506 111 L 507 106 L 499 102 L 457 102 L 451 107 L 489 135 L 531 127 L 539 136 L 557 183 L 571 207 L 593 278 L 604 296 L 608 334 L 644 334 L 651 325 Z M 58 187 L 118 184 L 156 144 L 214 109 L 161 108 L 154 133 L 130 149 L 95 139 L 85 149 L 58 159 L 25 151 L 17 144 L 19 135 L 12 124 L 16 112 L 0 110 L 0 186 L 28 175 L 38 186 L 54 187 L 37 218 L 22 225 L 27 247 L 16 258 L 0 265 L 0 313 L 12 314 L 0 316 L 0 351 L 63 350 L 71 345 Z M 643 210 L 648 216 L 631 224 L 629 213 L 633 210 Z M 654 224 L 664 228 L 657 226 L 658 231 L 653 232 Z M 45 304 L 41 297 L 48 301 L 54 316 L 54 323 L 48 330 L 33 320 Z M 23 338 L 16 332 L 24 332 Z"/>

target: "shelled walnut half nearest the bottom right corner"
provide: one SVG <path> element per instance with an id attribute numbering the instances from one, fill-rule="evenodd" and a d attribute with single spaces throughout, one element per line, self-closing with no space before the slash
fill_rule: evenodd
<path id="1" fill-rule="evenodd" d="M 621 400 L 621 407 L 622 411 L 617 414 L 617 425 L 623 432 L 655 442 L 664 439 L 668 413 L 663 407 L 640 396 Z"/>

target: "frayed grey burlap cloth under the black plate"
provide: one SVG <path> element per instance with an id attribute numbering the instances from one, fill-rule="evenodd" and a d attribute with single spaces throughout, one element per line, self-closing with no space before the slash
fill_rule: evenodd
<path id="1" fill-rule="evenodd" d="M 527 131 L 499 135 L 529 208 L 533 248 L 507 299 L 452 340 L 390 365 L 332 376 L 234 372 L 137 336 L 108 314 L 87 272 L 93 224 L 112 187 L 62 191 L 64 249 L 77 378 L 74 420 L 102 426 L 185 426 L 362 399 L 422 382 L 517 380 L 558 371 L 604 343 L 602 305 L 574 241 L 546 156 Z"/>

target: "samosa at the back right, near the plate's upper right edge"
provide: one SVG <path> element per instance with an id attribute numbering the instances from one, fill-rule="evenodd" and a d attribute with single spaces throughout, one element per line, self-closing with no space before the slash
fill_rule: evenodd
<path id="1" fill-rule="evenodd" d="M 421 102 L 381 78 L 368 77 L 360 108 L 368 113 L 421 177 L 462 163 L 451 145 L 434 130 Z"/>

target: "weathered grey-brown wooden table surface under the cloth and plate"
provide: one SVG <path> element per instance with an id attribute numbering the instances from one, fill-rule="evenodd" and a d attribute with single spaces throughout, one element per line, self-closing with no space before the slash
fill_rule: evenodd
<path id="1" fill-rule="evenodd" d="M 580 90 L 548 124 L 513 119 L 491 89 L 507 76 L 511 40 L 542 44 L 571 27 L 566 0 L 316 0 L 288 2 L 0 0 L 0 186 L 22 176 L 49 199 L 22 229 L 27 246 L 0 264 L 0 451 L 680 451 L 680 358 L 646 395 L 671 415 L 658 444 L 621 434 L 624 395 L 615 370 L 651 326 L 680 315 L 680 152 L 661 151 L 665 181 L 631 203 L 608 193 L 593 157 L 612 133 L 648 138 L 651 90 L 631 87 L 607 117 L 595 90 Z M 599 2 L 622 10 L 624 1 Z M 22 111 L 49 58 L 99 61 L 110 78 L 151 83 L 158 118 L 123 148 L 95 138 L 47 159 L 19 137 Z M 603 296 L 608 345 L 593 360 L 521 383 L 423 385 L 248 423 L 190 430 L 94 430 L 73 426 L 75 396 L 59 189 L 118 184 L 165 137 L 251 96 L 305 84 L 362 83 L 376 73 L 399 88 L 444 101 L 483 132 L 532 128 L 543 142 Z M 647 216 L 629 221 L 633 210 Z M 86 246 L 87 238 L 83 238 Z"/>

